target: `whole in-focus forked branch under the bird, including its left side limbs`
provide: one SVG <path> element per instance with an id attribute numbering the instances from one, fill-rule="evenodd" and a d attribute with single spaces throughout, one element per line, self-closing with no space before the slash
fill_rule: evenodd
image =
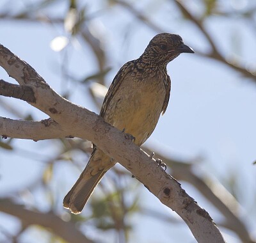
<path id="1" fill-rule="evenodd" d="M 88 139 L 109 157 L 131 171 L 167 207 L 188 224 L 198 242 L 225 242 L 209 214 L 198 206 L 156 160 L 143 152 L 124 132 L 106 123 L 100 116 L 77 106 L 52 90 L 44 79 L 25 61 L 0 45 L 0 65 L 19 85 L 0 81 L 0 95 L 25 100 L 50 119 L 20 121 L 0 118 L 0 134 L 22 139 L 80 137 Z"/>

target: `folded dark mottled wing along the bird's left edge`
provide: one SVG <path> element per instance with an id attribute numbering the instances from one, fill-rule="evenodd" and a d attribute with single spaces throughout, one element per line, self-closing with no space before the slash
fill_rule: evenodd
<path id="1" fill-rule="evenodd" d="M 110 100 L 115 95 L 116 90 L 118 90 L 122 80 L 124 80 L 124 77 L 132 70 L 133 66 L 134 61 L 129 61 L 128 63 L 125 63 L 125 65 L 122 68 L 120 68 L 118 73 L 115 75 L 115 78 L 113 79 L 113 82 L 109 87 L 108 93 L 106 94 L 104 101 L 102 103 L 102 107 L 100 110 L 100 116 L 102 118 L 104 118 L 106 115 L 106 111 L 108 110 Z"/>

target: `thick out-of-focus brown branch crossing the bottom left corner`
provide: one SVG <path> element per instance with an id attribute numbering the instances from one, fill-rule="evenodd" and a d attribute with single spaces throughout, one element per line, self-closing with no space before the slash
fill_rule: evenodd
<path id="1" fill-rule="evenodd" d="M 38 224 L 48 230 L 51 229 L 54 234 L 60 236 L 67 242 L 93 243 L 87 239 L 72 222 L 65 222 L 53 212 L 41 213 L 25 209 L 22 205 L 17 205 L 11 200 L 0 200 L 0 210 L 6 214 L 19 217 L 22 223 Z"/>

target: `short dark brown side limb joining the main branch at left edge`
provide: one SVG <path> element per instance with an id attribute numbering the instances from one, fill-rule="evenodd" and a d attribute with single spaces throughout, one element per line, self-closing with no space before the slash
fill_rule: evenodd
<path id="1" fill-rule="evenodd" d="M 35 93 L 32 88 L 28 86 L 20 86 L 17 84 L 10 84 L 10 82 L 0 79 L 0 95 L 6 97 L 19 98 L 28 102 L 35 103 Z"/>

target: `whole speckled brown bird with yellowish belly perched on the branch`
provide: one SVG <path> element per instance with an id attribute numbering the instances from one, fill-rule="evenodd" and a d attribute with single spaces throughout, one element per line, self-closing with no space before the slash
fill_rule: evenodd
<path id="1" fill-rule="evenodd" d="M 100 109 L 100 116 L 119 130 L 131 134 L 141 146 L 156 128 L 168 106 L 171 79 L 166 66 L 179 54 L 194 53 L 179 35 L 161 33 L 148 43 L 138 59 L 128 61 L 116 74 Z M 79 214 L 102 176 L 116 164 L 93 145 L 93 152 L 63 207 Z"/>

